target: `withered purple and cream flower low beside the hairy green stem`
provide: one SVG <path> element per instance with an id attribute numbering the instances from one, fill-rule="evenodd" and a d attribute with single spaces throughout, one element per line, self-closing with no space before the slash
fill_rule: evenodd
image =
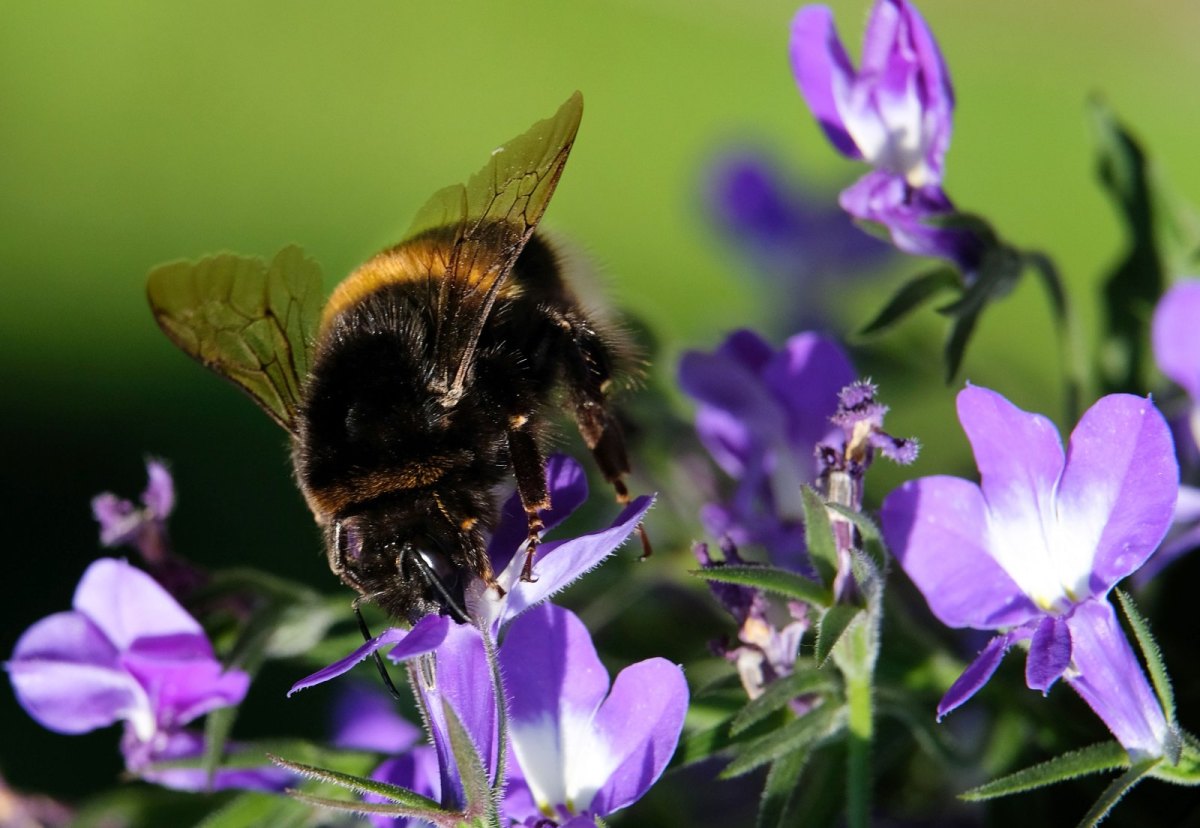
<path id="1" fill-rule="evenodd" d="M 724 560 L 714 560 L 707 544 L 696 544 L 692 552 L 701 569 L 742 566 L 746 563 L 728 540 L 721 544 Z M 799 601 L 788 601 L 786 611 L 775 607 L 761 589 L 752 587 L 709 581 L 708 588 L 738 625 L 738 643 L 731 646 L 715 641 L 713 650 L 738 671 L 746 696 L 757 698 L 768 684 L 792 674 L 800 641 L 809 629 L 806 607 Z M 782 617 L 785 612 L 786 617 Z M 804 700 L 793 702 L 793 708 L 800 713 Z"/>

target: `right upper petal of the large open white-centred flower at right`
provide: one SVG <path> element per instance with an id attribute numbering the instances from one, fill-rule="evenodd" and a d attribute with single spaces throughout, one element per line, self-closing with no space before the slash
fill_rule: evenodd
<path id="1" fill-rule="evenodd" d="M 1171 432 L 1152 402 L 1112 394 L 1087 409 L 1058 485 L 1058 521 L 1072 541 L 1057 551 L 1074 551 L 1068 569 L 1091 572 L 1091 595 L 1105 594 L 1163 540 L 1178 481 Z"/>

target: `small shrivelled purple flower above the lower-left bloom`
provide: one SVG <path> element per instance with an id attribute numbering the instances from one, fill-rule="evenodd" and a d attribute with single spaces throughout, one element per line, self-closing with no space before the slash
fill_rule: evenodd
<path id="1" fill-rule="evenodd" d="M 208 576 L 170 548 L 167 518 L 175 508 L 175 484 L 166 464 L 146 461 L 149 482 L 142 492 L 142 505 L 110 492 L 91 499 L 91 514 L 100 523 L 103 546 L 128 546 L 137 550 L 146 570 L 172 595 L 186 600 Z"/>

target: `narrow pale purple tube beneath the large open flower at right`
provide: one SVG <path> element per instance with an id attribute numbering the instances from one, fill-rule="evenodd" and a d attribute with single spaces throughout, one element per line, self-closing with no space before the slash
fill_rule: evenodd
<path id="1" fill-rule="evenodd" d="M 1162 756 L 1166 718 L 1105 600 L 1080 604 L 1067 619 L 1075 670 L 1067 683 L 1082 696 L 1117 742 L 1138 761 Z"/>

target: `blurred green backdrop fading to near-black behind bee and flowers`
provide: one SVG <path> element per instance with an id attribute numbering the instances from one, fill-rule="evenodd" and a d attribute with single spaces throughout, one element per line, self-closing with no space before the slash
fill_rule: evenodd
<path id="1" fill-rule="evenodd" d="M 869 4 L 833 6 L 857 53 Z M 1091 331 L 1096 280 L 1123 241 L 1094 184 L 1086 101 L 1102 94 L 1175 188 L 1200 198 L 1200 96 L 1189 83 L 1200 77 L 1200 6 L 919 7 L 958 91 L 950 196 L 1015 244 L 1052 253 Z M 781 0 L 4 4 L 0 653 L 67 607 L 97 554 L 89 498 L 139 492 L 146 454 L 173 463 L 181 552 L 335 588 L 283 436 L 155 328 L 143 286 L 161 262 L 299 242 L 331 287 L 398 240 L 430 193 L 580 89 L 583 125 L 545 224 L 588 251 L 614 304 L 658 337 L 656 377 L 670 382 L 682 349 L 766 319 L 784 299 L 764 295 L 714 233 L 702 204 L 708 166 L 731 148 L 766 148 L 830 204 L 862 172 L 826 144 L 796 90 L 794 10 Z M 834 298 L 846 299 L 845 330 L 920 266 L 901 262 L 890 281 Z M 904 376 L 875 376 L 892 430 L 926 445 L 913 474 L 965 470 L 931 317 L 882 342 Z M 964 377 L 1057 416 L 1056 353 L 1028 282 L 986 316 Z M 883 473 L 876 493 L 899 479 Z M 664 550 L 661 566 L 680 559 Z M 64 793 L 118 772 L 110 732 L 49 736 L 7 683 L 0 733 L 0 770 L 18 786 Z M 86 745 L 108 764 L 56 778 L 64 755 Z"/>

